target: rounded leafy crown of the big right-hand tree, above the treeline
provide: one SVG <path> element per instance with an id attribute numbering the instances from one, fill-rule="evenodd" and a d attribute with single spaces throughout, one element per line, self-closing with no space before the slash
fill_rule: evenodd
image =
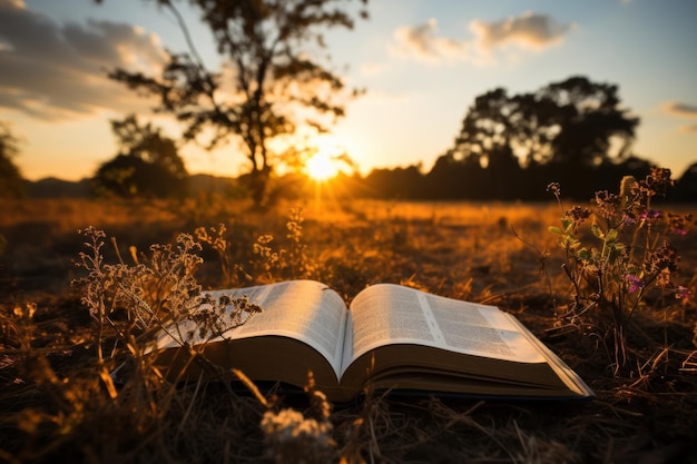
<path id="1" fill-rule="evenodd" d="M 509 97 L 499 88 L 477 97 L 453 151 L 522 159 L 527 165 L 599 166 L 628 155 L 638 118 L 621 108 L 618 88 L 571 77 L 538 92 Z M 507 149 L 503 149 L 503 148 Z M 619 149 L 612 154 L 612 148 Z M 510 159 L 500 159 L 510 165 Z"/>

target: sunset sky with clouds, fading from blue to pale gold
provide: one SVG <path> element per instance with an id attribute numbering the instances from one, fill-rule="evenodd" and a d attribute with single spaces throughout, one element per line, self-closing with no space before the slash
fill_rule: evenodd
<path id="1" fill-rule="evenodd" d="M 178 4 L 207 65 L 218 67 L 196 11 Z M 363 172 L 430 169 L 477 96 L 575 75 L 619 86 L 641 119 L 636 155 L 675 177 L 697 161 L 697 1 L 372 0 L 369 12 L 353 31 L 326 34 L 332 66 L 367 90 L 334 127 Z M 77 180 L 112 158 L 109 119 L 149 116 L 151 103 L 106 72 L 157 69 L 164 47 L 187 51 L 175 18 L 154 2 L 0 0 L 0 120 L 23 140 L 16 162 L 24 177 Z M 181 155 L 190 172 L 245 169 L 229 150 Z"/>

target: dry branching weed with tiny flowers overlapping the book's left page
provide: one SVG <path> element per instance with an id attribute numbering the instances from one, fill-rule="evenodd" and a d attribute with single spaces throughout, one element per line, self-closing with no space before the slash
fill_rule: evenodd
<path id="1" fill-rule="evenodd" d="M 246 298 L 214 299 L 203 292 L 194 277 L 202 263 L 196 255 L 200 245 L 190 235 L 179 235 L 176 247 L 153 245 L 149 265 L 141 264 L 137 256 L 134 256 L 135 265 L 122 259 L 108 265 L 101 255 L 104 231 L 88 227 L 84 234 L 89 239 L 86 246 L 90 253 L 80 253 L 78 266 L 89 274 L 76 283 L 84 295 L 82 304 L 98 323 L 100 364 L 107 361 L 104 344 L 111 346 L 108 355 L 111 368 L 125 354 L 136 354 L 137 366 L 147 364 L 138 355 L 151 351 L 154 336 L 163 330 L 196 355 L 189 345 L 194 338 L 203 340 L 200 348 L 196 345 L 203 349 L 205 342 L 243 324 L 259 310 Z M 181 332 L 187 322 L 198 329 Z M 116 340 L 105 339 L 107 330 L 114 332 Z"/>

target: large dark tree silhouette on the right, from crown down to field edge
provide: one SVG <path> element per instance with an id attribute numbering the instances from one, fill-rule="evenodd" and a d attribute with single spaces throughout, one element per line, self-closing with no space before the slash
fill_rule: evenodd
<path id="1" fill-rule="evenodd" d="M 586 77 L 514 96 L 498 88 L 474 99 L 445 156 L 449 165 L 467 164 L 467 175 L 477 175 L 461 179 L 477 184 L 472 198 L 534 197 L 513 184 L 551 180 L 582 196 L 600 170 L 608 176 L 597 180 L 607 182 L 613 167 L 629 160 L 638 124 L 621 107 L 617 86 Z M 441 171 L 444 166 L 436 162 Z"/>

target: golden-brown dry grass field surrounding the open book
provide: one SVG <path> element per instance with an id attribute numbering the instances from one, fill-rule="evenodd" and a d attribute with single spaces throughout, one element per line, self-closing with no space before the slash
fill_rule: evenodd
<path id="1" fill-rule="evenodd" d="M 680 215 L 693 207 L 660 206 Z M 553 201 L 347 200 L 321 210 L 310 201 L 256 211 L 220 198 L 55 199 L 2 200 L 0 210 L 0 461 L 697 462 L 694 226 L 670 236 L 681 256 L 671 272 L 681 294 L 640 290 L 640 304 L 622 319 L 620 365 L 617 319 L 599 303 L 586 313 L 572 307 L 575 288 L 561 267 L 568 258 L 549 230 L 562 218 Z M 105 263 L 131 266 L 147 261 L 150 245 L 190 234 L 202 243 L 194 275 L 204 288 L 306 277 L 348 303 L 365 286 L 390 282 L 500 306 L 597 399 L 406 401 L 369 392 L 327 415 L 316 396 L 267 396 L 264 405 L 224 383 L 173 386 L 147 369 L 115 389 L 105 379 L 109 363 L 143 356 L 124 354 L 116 335 L 100 333 L 80 302 L 84 289 L 71 285 L 87 275 L 76 266 L 88 251 L 77 230 L 87 226 L 106 234 Z M 598 243 L 589 230 L 578 237 Z"/>

